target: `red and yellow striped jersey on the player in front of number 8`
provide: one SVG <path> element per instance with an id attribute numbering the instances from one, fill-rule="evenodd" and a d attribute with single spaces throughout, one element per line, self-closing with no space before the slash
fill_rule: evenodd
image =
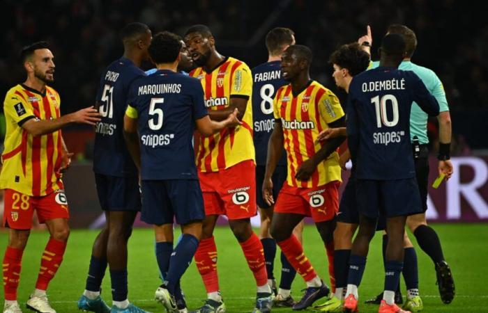
<path id="1" fill-rule="evenodd" d="M 317 166 L 308 181 L 295 178 L 303 161 L 318 152 L 322 143 L 316 143 L 319 132 L 328 124 L 344 116 L 339 99 L 332 91 L 317 81 L 312 81 L 305 90 L 293 97 L 291 85 L 277 90 L 273 103 L 275 118 L 282 121 L 284 148 L 287 150 L 288 177 L 290 186 L 312 188 L 328 182 L 341 180 L 339 154 L 333 152 Z"/>

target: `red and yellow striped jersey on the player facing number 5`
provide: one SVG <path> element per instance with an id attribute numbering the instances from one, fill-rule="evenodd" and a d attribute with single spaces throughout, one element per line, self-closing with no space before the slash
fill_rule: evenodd
<path id="1" fill-rule="evenodd" d="M 231 97 L 248 97 L 243 125 L 222 129 L 213 136 L 199 136 L 197 168 L 202 172 L 217 172 L 245 160 L 254 160 L 252 143 L 252 74 L 247 65 L 235 58 L 226 58 L 212 72 L 202 67 L 190 72 L 204 87 L 208 110 L 229 107 Z"/>

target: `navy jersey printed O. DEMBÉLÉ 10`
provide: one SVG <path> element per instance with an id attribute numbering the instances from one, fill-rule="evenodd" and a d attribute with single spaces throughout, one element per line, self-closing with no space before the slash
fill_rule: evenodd
<path id="1" fill-rule="evenodd" d="M 346 113 L 358 179 L 415 177 L 410 141 L 413 101 L 427 114 L 439 114 L 437 100 L 414 72 L 378 67 L 353 78 Z"/>

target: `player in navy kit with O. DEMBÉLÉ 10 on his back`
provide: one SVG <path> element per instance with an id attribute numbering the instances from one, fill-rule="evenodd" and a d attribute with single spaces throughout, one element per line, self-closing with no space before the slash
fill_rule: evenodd
<path id="1" fill-rule="evenodd" d="M 394 298 L 403 267 L 406 216 L 420 207 L 410 143 L 411 104 L 415 101 L 429 115 L 439 114 L 438 102 L 418 76 L 397 70 L 406 54 L 402 36 L 386 35 L 379 52 L 380 66 L 356 75 L 349 86 L 347 134 L 360 220 L 349 259 L 345 312 L 358 310 L 358 285 L 380 211 L 386 216 L 389 241 L 379 312 L 406 312 Z"/>

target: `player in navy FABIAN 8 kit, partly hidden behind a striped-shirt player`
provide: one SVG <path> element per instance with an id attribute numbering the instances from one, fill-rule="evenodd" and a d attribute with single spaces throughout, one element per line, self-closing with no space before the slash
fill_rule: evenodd
<path id="1" fill-rule="evenodd" d="M 276 289 L 276 280 L 273 274 L 276 256 L 276 242 L 271 237 L 270 225 L 273 217 L 273 206 L 264 202 L 261 185 L 266 170 L 266 154 L 268 141 L 273 131 L 275 118 L 273 117 L 273 98 L 276 91 L 287 84 L 281 75 L 281 55 L 287 47 L 295 44 L 295 34 L 291 29 L 276 27 L 266 35 L 266 48 L 268 49 L 268 62 L 262 63 L 252 69 L 252 119 L 254 124 L 254 150 L 256 150 L 256 200 L 261 217 L 259 236 L 264 248 L 268 284 L 275 293 L 273 305 L 276 307 L 293 306 L 290 295 L 291 283 L 296 271 L 289 264 L 287 257 L 281 254 L 282 277 L 280 289 Z M 287 179 L 287 156 L 283 154 L 273 174 L 273 197 L 276 198 L 283 182 Z M 297 225 L 295 235 L 301 241 L 303 223 Z"/>

